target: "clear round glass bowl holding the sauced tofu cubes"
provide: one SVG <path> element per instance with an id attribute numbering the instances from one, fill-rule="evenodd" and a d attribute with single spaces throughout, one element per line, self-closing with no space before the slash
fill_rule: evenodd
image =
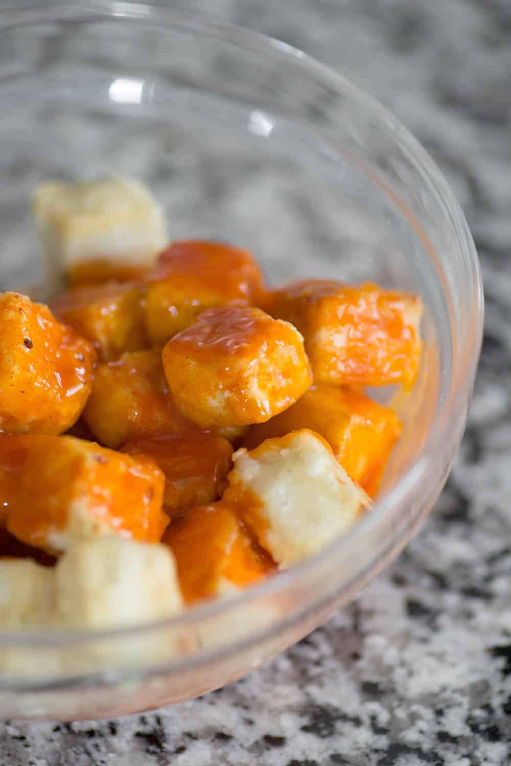
<path id="1" fill-rule="evenodd" d="M 0 715 L 90 719 L 197 696 L 313 630 L 386 566 L 435 502 L 461 439 L 483 296 L 474 243 L 399 122 L 281 42 L 163 8 L 109 3 L 0 20 L 2 289 L 41 283 L 31 190 L 141 178 L 171 237 L 253 251 L 271 283 L 373 280 L 425 303 L 425 355 L 372 512 L 321 555 L 160 624 L 2 633 Z M 179 647 L 177 649 L 177 647 Z M 7 653 L 19 672 L 2 673 Z M 11 663 L 12 666 L 12 663 Z"/>

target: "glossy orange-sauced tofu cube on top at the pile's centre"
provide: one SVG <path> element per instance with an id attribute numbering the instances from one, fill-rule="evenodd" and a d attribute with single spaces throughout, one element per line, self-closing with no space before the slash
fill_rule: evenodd
<path id="1" fill-rule="evenodd" d="M 253 308 L 205 311 L 168 341 L 163 366 L 177 408 L 205 429 L 267 421 L 311 385 L 300 333 Z"/>

